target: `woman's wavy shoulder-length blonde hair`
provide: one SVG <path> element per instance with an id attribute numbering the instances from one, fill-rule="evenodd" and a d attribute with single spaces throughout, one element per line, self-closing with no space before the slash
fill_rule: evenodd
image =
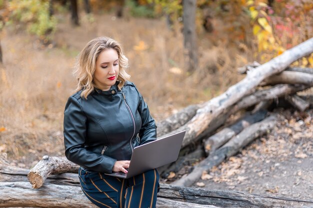
<path id="1" fill-rule="evenodd" d="M 120 44 L 109 37 L 96 37 L 86 44 L 77 57 L 74 74 L 78 84 L 74 92 L 82 90 L 80 97 L 87 99 L 87 96 L 94 90 L 95 85 L 92 80 L 95 71 L 95 61 L 99 54 L 108 48 L 115 49 L 118 54 L 118 89 L 120 90 L 124 83 L 130 78 L 125 71 L 125 68 L 128 67 L 128 59 L 123 54 Z"/>

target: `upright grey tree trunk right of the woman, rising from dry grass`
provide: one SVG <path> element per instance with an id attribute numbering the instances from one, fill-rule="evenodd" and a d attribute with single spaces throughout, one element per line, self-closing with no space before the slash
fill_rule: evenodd
<path id="1" fill-rule="evenodd" d="M 183 37 L 184 48 L 186 50 L 185 64 L 189 72 L 193 72 L 197 67 L 197 47 L 195 31 L 195 0 L 183 0 Z"/>

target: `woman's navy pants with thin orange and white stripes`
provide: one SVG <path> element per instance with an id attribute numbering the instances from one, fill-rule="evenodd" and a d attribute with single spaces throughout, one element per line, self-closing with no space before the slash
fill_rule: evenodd
<path id="1" fill-rule="evenodd" d="M 99 208 L 155 208 L 159 191 L 156 169 L 129 179 L 78 170 L 84 195 Z"/>

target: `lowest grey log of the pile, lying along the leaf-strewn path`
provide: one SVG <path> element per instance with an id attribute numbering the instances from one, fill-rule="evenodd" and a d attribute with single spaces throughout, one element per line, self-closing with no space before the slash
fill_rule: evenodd
<path id="1" fill-rule="evenodd" d="M 172 183 L 172 185 L 188 187 L 198 180 L 203 171 L 209 172 L 213 166 L 219 165 L 222 161 L 230 156 L 233 156 L 245 145 L 253 141 L 255 138 L 270 131 L 276 123 L 274 116 L 270 116 L 263 121 L 252 124 L 243 129 L 238 135 L 230 139 L 222 147 L 218 148 L 213 154 L 206 157 L 199 164 L 194 166 L 194 169 L 187 176 L 180 178 Z"/>

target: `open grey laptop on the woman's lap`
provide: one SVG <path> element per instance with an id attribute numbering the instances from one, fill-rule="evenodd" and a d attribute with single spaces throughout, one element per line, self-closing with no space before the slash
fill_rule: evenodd
<path id="1" fill-rule="evenodd" d="M 128 172 L 106 174 L 128 179 L 177 160 L 185 131 L 154 140 L 133 149 Z"/>

